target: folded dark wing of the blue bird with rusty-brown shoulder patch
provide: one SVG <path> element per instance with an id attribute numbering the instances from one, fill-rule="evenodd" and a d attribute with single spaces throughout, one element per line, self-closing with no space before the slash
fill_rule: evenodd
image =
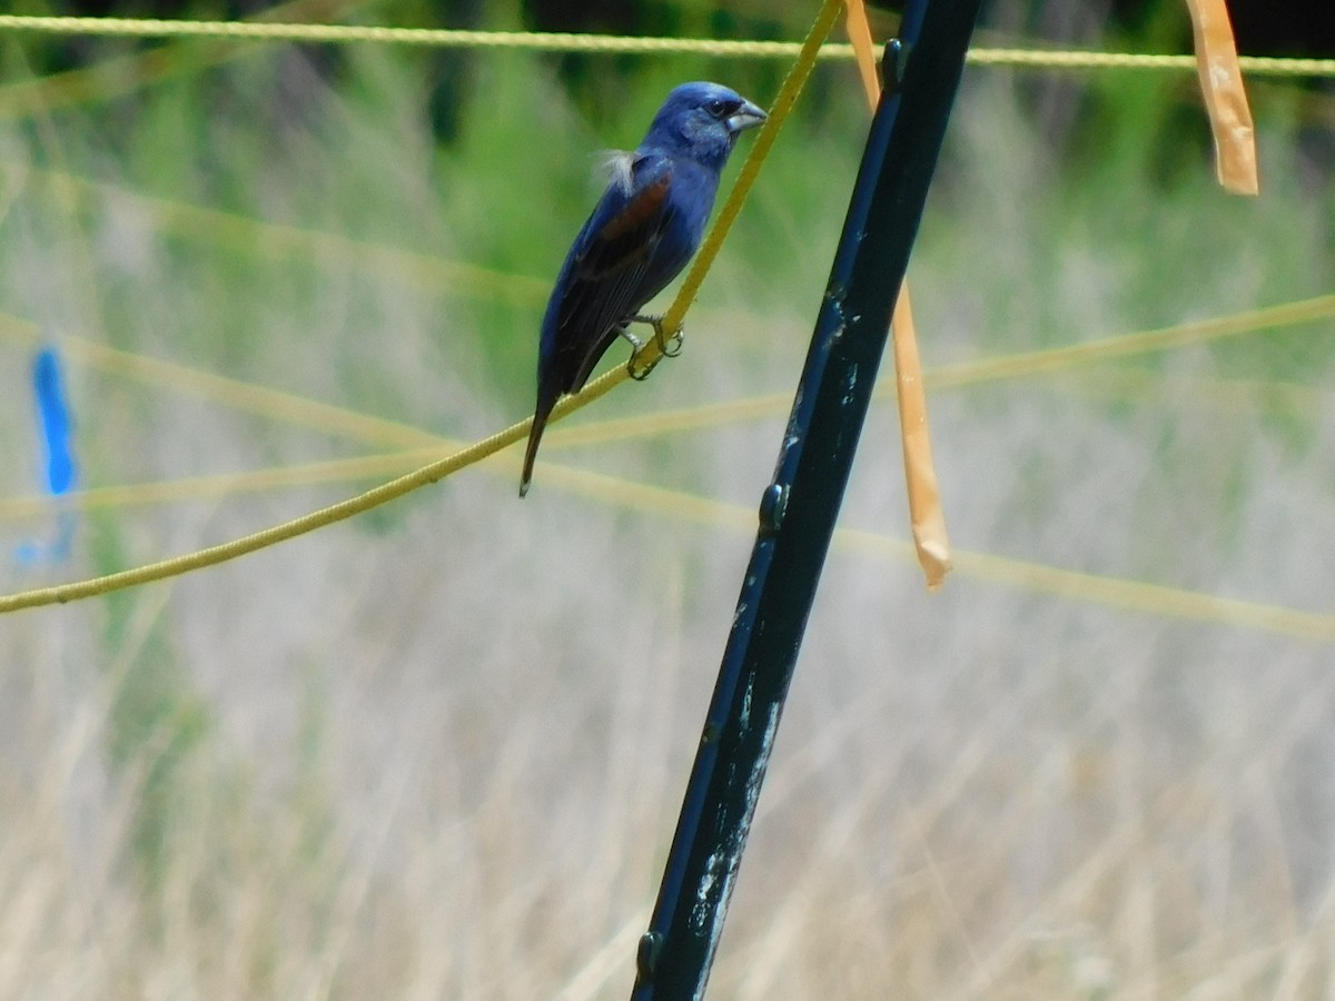
<path id="1" fill-rule="evenodd" d="M 609 187 L 575 242 L 554 343 L 569 363 L 575 392 L 618 327 L 659 290 L 651 287 L 651 263 L 672 219 L 673 165 L 663 156 L 635 155 L 630 191 L 618 180 Z"/>

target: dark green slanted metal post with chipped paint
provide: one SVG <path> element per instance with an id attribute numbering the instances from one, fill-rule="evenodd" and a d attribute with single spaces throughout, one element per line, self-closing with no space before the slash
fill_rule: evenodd
<path id="1" fill-rule="evenodd" d="M 909 0 L 663 872 L 631 1001 L 700 998 L 980 0 Z"/>

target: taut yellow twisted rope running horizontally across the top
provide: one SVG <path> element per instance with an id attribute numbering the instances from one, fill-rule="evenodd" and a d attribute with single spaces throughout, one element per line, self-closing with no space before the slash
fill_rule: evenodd
<path id="1" fill-rule="evenodd" d="M 527 52 L 598 52 L 634 55 L 709 55 L 748 59 L 794 59 L 796 41 L 728 39 L 663 39 L 567 32 L 466 31 L 457 28 L 387 28 L 364 24 L 272 24 L 255 21 L 191 21 L 139 17 L 39 17 L 0 15 L 0 31 L 45 35 L 100 35 L 159 39 L 248 39 L 255 41 L 376 43 L 431 48 L 502 48 Z M 821 49 L 820 59 L 853 59 L 848 44 Z M 975 48 L 976 65 L 1048 69 L 1173 69 L 1193 71 L 1195 56 L 1081 52 L 1069 49 Z M 1335 76 L 1335 59 L 1243 56 L 1244 72 L 1271 76 Z"/>

